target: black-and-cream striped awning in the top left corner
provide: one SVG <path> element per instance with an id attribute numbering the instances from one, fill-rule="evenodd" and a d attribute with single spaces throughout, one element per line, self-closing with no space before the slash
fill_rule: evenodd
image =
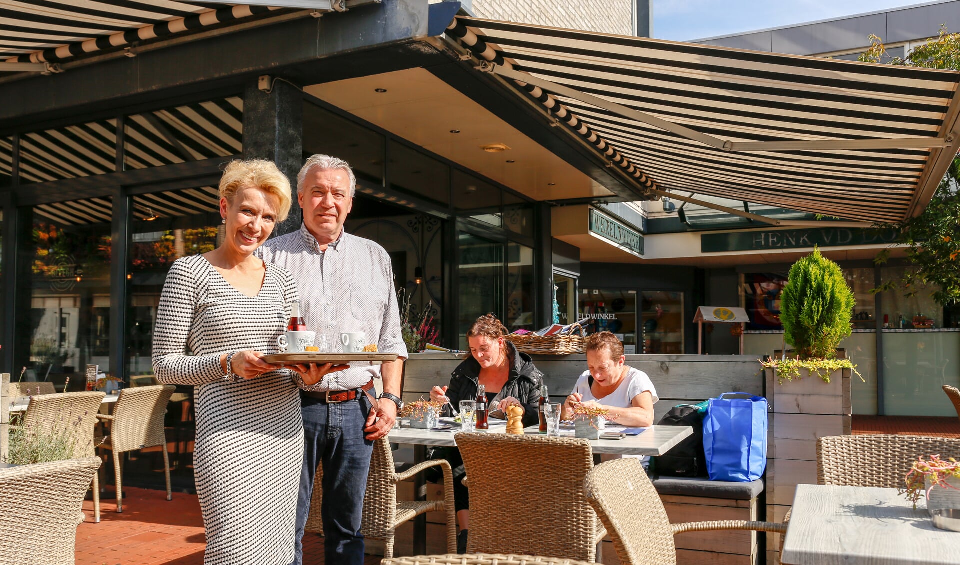
<path id="1" fill-rule="evenodd" d="M 173 0 L 0 0 L 0 60 L 55 63 L 275 10 Z"/>

